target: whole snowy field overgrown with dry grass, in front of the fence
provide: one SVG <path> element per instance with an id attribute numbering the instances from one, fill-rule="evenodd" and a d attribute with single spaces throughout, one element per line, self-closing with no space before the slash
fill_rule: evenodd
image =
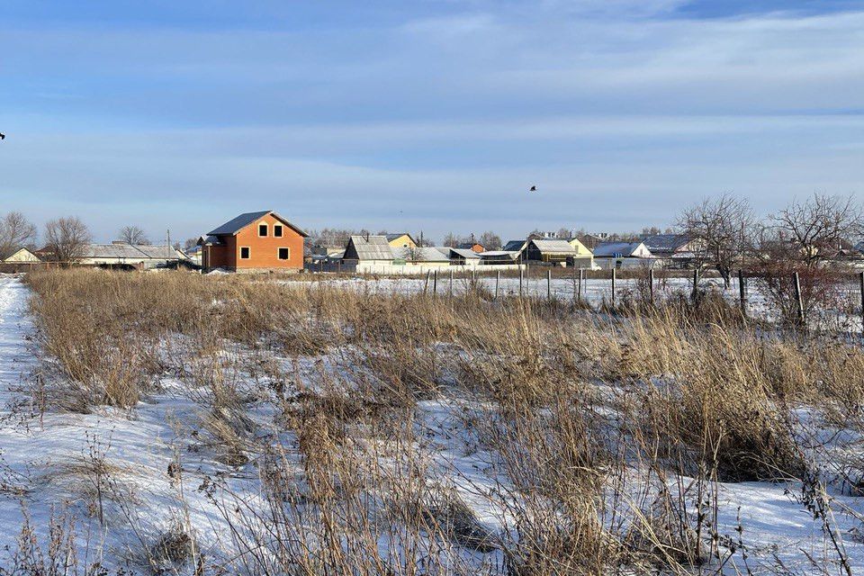
<path id="1" fill-rule="evenodd" d="M 864 571 L 857 338 L 555 282 L 0 275 L 0 575 Z"/>

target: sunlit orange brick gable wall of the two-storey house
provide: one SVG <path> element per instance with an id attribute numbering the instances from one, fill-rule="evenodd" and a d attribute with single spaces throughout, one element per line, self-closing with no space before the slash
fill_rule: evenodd
<path id="1" fill-rule="evenodd" d="M 267 236 L 258 236 L 258 226 L 267 224 Z M 282 238 L 274 238 L 274 224 L 282 225 Z M 232 240 L 231 242 L 227 240 Z M 229 253 L 229 267 L 239 270 L 254 269 L 293 269 L 302 270 L 303 267 L 303 237 L 291 227 L 284 224 L 282 220 L 267 214 L 246 228 L 241 229 L 234 237 L 225 237 Z M 240 259 L 240 248 L 249 247 L 249 258 Z M 278 248 L 287 247 L 290 256 L 287 260 L 280 260 Z"/>

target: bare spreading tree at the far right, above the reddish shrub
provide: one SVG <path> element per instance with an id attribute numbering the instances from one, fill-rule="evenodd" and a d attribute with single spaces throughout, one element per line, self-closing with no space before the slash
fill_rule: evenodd
<path id="1" fill-rule="evenodd" d="M 791 244 L 808 268 L 864 232 L 864 212 L 852 196 L 815 193 L 806 202 L 793 201 L 770 221 L 776 241 Z"/>

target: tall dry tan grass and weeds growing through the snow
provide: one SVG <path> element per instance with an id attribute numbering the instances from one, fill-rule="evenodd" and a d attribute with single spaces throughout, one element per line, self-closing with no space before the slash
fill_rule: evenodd
<path id="1" fill-rule="evenodd" d="M 195 351 L 177 370 L 200 425 L 226 464 L 256 458 L 266 496 L 213 497 L 247 551 L 229 571 L 719 570 L 735 553 L 717 545 L 716 482 L 811 477 L 792 410 L 840 420 L 864 400 L 860 347 L 756 325 L 710 294 L 635 293 L 593 315 L 479 287 L 444 299 L 81 270 L 29 282 L 44 349 L 82 409 L 134 407 L 166 357 Z M 239 349 L 256 360 L 225 360 Z M 338 366 L 303 384 L 265 353 Z M 259 377 L 296 447 L 247 418 L 240 383 Z M 436 399 L 483 407 L 464 416 L 464 449 L 490 455 L 500 532 L 420 449 L 419 412 Z"/>

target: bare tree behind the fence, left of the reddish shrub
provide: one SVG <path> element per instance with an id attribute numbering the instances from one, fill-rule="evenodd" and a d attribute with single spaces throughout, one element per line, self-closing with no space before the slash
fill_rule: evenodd
<path id="1" fill-rule="evenodd" d="M 728 288 L 734 266 L 743 262 L 752 244 L 750 203 L 728 193 L 705 199 L 683 211 L 678 226 L 689 238 L 699 266 L 715 268 Z"/>

